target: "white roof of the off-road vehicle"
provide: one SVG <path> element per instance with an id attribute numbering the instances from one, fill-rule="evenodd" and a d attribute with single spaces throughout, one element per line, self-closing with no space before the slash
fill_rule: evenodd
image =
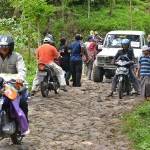
<path id="1" fill-rule="evenodd" d="M 130 35 L 144 35 L 144 31 L 132 31 L 132 30 L 115 30 L 110 31 L 107 34 L 130 34 Z"/>

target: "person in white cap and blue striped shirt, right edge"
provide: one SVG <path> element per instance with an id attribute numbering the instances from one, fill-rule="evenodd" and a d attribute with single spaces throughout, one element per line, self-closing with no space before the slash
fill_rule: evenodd
<path id="1" fill-rule="evenodd" d="M 141 95 L 150 98 L 150 47 L 142 47 L 143 56 L 139 59 L 138 77 L 141 78 Z"/>

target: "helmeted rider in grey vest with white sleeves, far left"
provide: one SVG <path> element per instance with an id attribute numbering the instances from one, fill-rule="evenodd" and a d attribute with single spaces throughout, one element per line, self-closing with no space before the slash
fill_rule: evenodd
<path id="1" fill-rule="evenodd" d="M 0 76 L 2 74 L 16 74 L 16 82 L 23 84 L 26 77 L 26 67 L 23 57 L 14 52 L 14 40 L 11 36 L 0 36 Z M 5 76 L 4 76 L 5 80 Z M 28 120 L 27 99 L 20 99 L 20 107 Z M 29 133 L 29 130 L 25 133 Z"/>

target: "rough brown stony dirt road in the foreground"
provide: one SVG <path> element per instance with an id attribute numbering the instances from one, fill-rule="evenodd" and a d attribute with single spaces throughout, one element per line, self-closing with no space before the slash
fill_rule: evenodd
<path id="1" fill-rule="evenodd" d="M 30 135 L 21 146 L 3 140 L 0 150 L 131 150 L 119 118 L 140 98 L 107 98 L 110 86 L 84 80 L 67 93 L 36 95 L 29 103 Z"/>

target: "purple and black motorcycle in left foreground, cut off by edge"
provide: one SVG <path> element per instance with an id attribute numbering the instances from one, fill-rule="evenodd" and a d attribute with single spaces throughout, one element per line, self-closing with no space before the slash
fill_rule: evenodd
<path id="1" fill-rule="evenodd" d="M 19 104 L 28 98 L 27 89 L 15 80 L 5 81 L 0 77 L 0 137 L 11 138 L 13 144 L 21 144 L 28 129 L 28 121 Z"/>

